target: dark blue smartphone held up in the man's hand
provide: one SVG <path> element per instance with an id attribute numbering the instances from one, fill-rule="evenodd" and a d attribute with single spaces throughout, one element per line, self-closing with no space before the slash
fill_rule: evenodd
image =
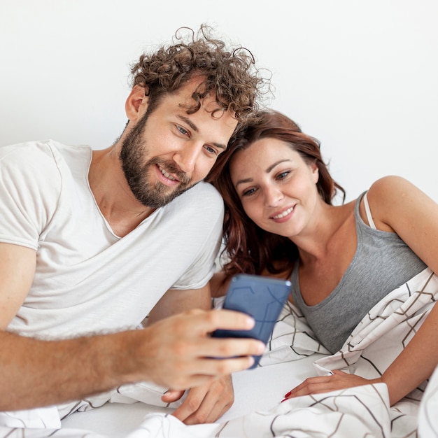
<path id="1" fill-rule="evenodd" d="M 231 279 L 223 309 L 247 313 L 255 320 L 251 330 L 215 330 L 211 336 L 229 338 L 255 338 L 267 344 L 278 320 L 292 283 L 281 278 L 237 274 Z M 262 356 L 254 356 L 251 368 L 257 367 Z"/>

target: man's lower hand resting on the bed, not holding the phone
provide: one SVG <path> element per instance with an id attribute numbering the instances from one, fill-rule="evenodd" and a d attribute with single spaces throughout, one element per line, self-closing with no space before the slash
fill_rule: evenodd
<path id="1" fill-rule="evenodd" d="M 179 400 L 184 391 L 169 390 L 162 396 L 166 403 Z M 212 383 L 197 386 L 172 415 L 185 424 L 213 423 L 232 406 L 234 391 L 231 376 L 225 376 Z"/>

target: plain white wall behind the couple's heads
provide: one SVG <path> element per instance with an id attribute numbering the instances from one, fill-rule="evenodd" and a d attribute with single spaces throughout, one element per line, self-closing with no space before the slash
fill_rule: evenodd
<path id="1" fill-rule="evenodd" d="M 437 16 L 435 0 L 1 0 L 0 146 L 110 146 L 129 63 L 206 22 L 272 71 L 271 106 L 321 141 L 347 200 L 399 174 L 438 201 Z"/>

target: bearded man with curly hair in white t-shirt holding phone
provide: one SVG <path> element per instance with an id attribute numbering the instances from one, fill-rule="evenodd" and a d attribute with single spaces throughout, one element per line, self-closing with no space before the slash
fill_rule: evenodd
<path id="1" fill-rule="evenodd" d="M 229 374 L 264 350 L 209 337 L 253 324 L 211 311 L 223 207 L 201 181 L 263 81 L 208 30 L 140 57 L 110 148 L 0 148 L 0 410 L 152 381 L 164 402 L 192 388 L 174 412 L 185 423 L 215 421 Z"/>

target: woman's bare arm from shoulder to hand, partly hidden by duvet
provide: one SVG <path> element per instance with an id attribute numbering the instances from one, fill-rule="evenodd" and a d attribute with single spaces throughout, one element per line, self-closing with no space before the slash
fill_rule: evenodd
<path id="1" fill-rule="evenodd" d="M 396 232 L 438 273 L 438 204 L 404 178 L 388 176 L 369 189 L 368 202 L 377 229 Z M 306 379 L 286 397 L 383 382 L 390 404 L 398 402 L 430 377 L 438 365 L 438 307 L 434 306 L 418 332 L 380 379 L 367 380 L 335 371 L 333 376 Z"/>

